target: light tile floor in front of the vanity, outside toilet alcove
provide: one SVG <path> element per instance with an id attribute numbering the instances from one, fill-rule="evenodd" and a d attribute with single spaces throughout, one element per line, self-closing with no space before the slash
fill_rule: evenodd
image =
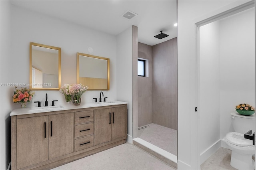
<path id="1" fill-rule="evenodd" d="M 52 170 L 175 170 L 137 146 L 125 143 Z"/>

